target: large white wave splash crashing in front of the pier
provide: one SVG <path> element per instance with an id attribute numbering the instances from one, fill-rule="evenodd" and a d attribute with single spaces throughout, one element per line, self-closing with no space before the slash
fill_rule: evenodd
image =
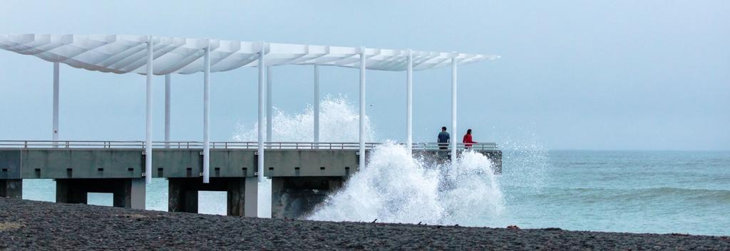
<path id="1" fill-rule="evenodd" d="M 484 225 L 504 200 L 491 161 L 466 151 L 455 163 L 426 163 L 405 147 L 386 142 L 366 166 L 320 204 L 310 220 Z"/>

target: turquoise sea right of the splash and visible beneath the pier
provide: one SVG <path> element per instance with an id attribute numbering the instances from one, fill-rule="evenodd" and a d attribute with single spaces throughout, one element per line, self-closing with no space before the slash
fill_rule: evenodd
<path id="1" fill-rule="evenodd" d="M 730 152 L 505 150 L 503 170 L 502 212 L 472 209 L 468 225 L 730 236 Z M 147 186 L 147 209 L 166 210 L 166 188 Z M 28 179 L 23 198 L 54 201 L 55 184 Z M 199 199 L 200 212 L 225 214 L 225 193 Z"/>

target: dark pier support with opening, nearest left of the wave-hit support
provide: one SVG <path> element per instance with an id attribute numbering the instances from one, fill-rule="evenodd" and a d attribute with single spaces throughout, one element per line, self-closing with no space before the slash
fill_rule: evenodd
<path id="1" fill-rule="evenodd" d="M 253 179 L 253 182 L 247 182 Z M 247 208 L 253 208 L 256 212 L 258 206 L 255 196 L 252 201 L 247 201 L 248 183 L 257 184 L 258 180 L 253 178 L 210 178 L 209 183 L 202 183 L 199 178 L 169 178 L 168 179 L 168 204 L 169 212 L 198 212 L 199 191 L 223 191 L 227 193 L 226 214 L 228 216 L 252 216 Z M 256 191 L 256 190 L 254 190 Z"/>

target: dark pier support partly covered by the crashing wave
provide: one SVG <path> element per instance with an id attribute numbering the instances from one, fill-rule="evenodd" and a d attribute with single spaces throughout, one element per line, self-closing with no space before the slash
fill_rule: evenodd
<path id="1" fill-rule="evenodd" d="M 309 215 L 345 177 L 272 177 L 272 218 L 298 219 Z"/>

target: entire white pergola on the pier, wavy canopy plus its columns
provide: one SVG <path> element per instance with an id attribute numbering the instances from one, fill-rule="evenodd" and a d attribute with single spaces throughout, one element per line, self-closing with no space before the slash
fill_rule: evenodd
<path id="1" fill-rule="evenodd" d="M 413 71 L 451 67 L 451 128 L 456 130 L 456 70 L 459 64 L 499 58 L 496 55 L 437 53 L 414 50 L 293 45 L 219 39 L 188 39 L 139 35 L 48 35 L 0 34 L 0 49 L 34 55 L 53 62 L 53 140 L 58 140 L 59 63 L 99 72 L 145 74 L 147 118 L 145 179 L 152 182 L 153 74 L 165 75 L 165 142 L 169 142 L 170 74 L 203 72 L 203 182 L 210 179 L 210 73 L 245 66 L 258 67 L 258 180 L 264 180 L 264 128 L 271 141 L 270 66 L 311 65 L 314 68 L 314 142 L 319 142 L 319 66 L 360 70 L 360 166 L 365 165 L 365 72 L 366 69 L 406 72 L 406 146 L 412 147 Z M 148 74 L 152 73 L 152 74 Z M 264 104 L 266 102 L 266 104 Z M 264 109 L 266 107 L 267 109 Z M 268 110 L 269 112 L 266 112 Z M 266 114 L 269 116 L 265 116 Z M 264 124 L 264 119 L 268 123 Z M 450 142 L 456 156 L 456 141 Z M 248 188 L 247 188 L 248 189 Z M 253 193 L 255 194 L 255 193 Z M 248 195 L 247 195 L 248 196 Z M 248 214 L 247 210 L 247 214 Z M 255 213 L 253 213 L 255 216 Z"/>

